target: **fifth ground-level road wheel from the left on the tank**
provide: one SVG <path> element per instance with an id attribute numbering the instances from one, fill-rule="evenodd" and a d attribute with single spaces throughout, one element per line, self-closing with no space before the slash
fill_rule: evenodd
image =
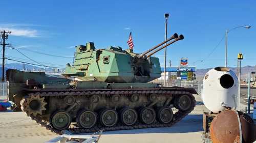
<path id="1" fill-rule="evenodd" d="M 151 107 L 144 107 L 140 110 L 140 119 L 145 124 L 152 124 L 156 120 L 156 112 Z"/>

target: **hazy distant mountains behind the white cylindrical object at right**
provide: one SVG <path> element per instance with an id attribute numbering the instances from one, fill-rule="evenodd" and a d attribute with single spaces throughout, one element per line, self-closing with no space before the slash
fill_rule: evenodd
<path id="1" fill-rule="evenodd" d="M 232 70 L 234 73 L 237 74 L 238 68 L 236 67 L 228 67 L 230 70 Z M 207 68 L 207 69 L 197 69 L 196 75 L 198 79 L 203 79 L 204 75 L 212 68 Z M 245 79 L 248 77 L 248 73 L 256 71 L 256 66 L 244 66 L 241 67 L 241 79 Z"/>

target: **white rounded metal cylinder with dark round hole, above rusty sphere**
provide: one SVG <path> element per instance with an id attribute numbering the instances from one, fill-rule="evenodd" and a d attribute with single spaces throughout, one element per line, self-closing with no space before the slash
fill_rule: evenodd
<path id="1" fill-rule="evenodd" d="M 209 70 L 203 79 L 202 100 L 206 108 L 218 113 L 223 107 L 237 108 L 238 78 L 226 67 Z"/>

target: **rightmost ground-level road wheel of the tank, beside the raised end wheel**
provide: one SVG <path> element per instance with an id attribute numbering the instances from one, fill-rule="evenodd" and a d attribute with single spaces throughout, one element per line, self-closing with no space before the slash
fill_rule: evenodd
<path id="1" fill-rule="evenodd" d="M 173 120 L 174 113 L 170 107 L 161 107 L 157 111 L 157 117 L 161 123 L 170 123 Z"/>

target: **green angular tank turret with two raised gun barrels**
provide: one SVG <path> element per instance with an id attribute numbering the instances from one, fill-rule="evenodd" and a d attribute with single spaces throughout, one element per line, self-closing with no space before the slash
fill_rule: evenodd
<path id="1" fill-rule="evenodd" d="M 85 46 L 79 45 L 76 46 L 73 66 L 67 64 L 66 73 L 63 75 L 80 81 L 95 80 L 109 83 L 152 81 L 161 76 L 159 59 L 152 55 L 183 38 L 183 35 L 174 34 L 142 54 L 112 46 L 106 49 L 95 49 L 92 42 Z M 167 44 L 162 46 L 165 43 Z"/>

